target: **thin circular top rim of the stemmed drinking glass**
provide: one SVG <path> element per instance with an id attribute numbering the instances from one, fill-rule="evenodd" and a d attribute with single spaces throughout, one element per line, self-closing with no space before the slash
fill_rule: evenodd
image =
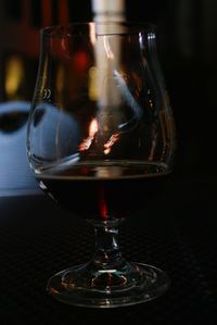
<path id="1" fill-rule="evenodd" d="M 60 37 L 68 37 L 72 35 L 79 35 L 85 36 L 89 35 L 88 30 L 79 30 L 73 32 L 73 28 L 77 27 L 89 27 L 89 28 L 95 28 L 97 27 L 113 27 L 117 29 L 106 30 L 106 32 L 100 32 L 99 35 L 137 35 L 142 32 L 156 32 L 156 25 L 149 22 L 136 22 L 136 21 L 89 21 L 89 22 L 72 22 L 65 25 L 51 25 L 51 26 L 44 26 L 40 28 L 39 34 L 41 36 L 48 36 L 53 38 L 60 38 Z M 119 29 L 118 28 L 126 28 L 126 29 Z"/>

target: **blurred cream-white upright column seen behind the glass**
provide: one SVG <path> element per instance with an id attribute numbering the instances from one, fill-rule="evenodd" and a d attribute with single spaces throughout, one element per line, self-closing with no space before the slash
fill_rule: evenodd
<path id="1" fill-rule="evenodd" d="M 93 20 L 95 22 L 125 21 L 125 0 L 92 0 L 91 3 Z M 98 70 L 97 89 L 99 89 L 98 104 L 100 107 L 115 105 L 120 101 L 119 90 L 117 89 L 114 78 L 110 78 L 110 83 L 105 82 L 108 76 L 113 76 L 114 68 L 118 70 L 119 65 L 119 40 L 113 40 L 114 58 L 114 53 L 110 46 L 111 40 L 106 36 L 106 34 L 110 33 L 111 27 L 111 25 L 97 26 L 97 34 L 102 34 L 102 37 L 98 39 L 95 46 Z M 117 27 L 122 29 L 120 25 L 115 26 L 115 33 L 118 33 Z"/>

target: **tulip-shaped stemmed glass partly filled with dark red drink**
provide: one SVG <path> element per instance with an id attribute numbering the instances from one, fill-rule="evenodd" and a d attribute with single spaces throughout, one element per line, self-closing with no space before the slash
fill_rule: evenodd
<path id="1" fill-rule="evenodd" d="M 155 30 L 141 23 L 74 23 L 41 29 L 40 41 L 29 164 L 41 189 L 95 234 L 92 259 L 53 275 L 47 290 L 82 307 L 151 300 L 169 279 L 123 258 L 118 226 L 145 207 L 173 168 L 174 118 Z"/>

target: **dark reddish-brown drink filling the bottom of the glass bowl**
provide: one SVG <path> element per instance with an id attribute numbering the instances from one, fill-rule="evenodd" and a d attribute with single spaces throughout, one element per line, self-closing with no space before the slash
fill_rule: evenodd
<path id="1" fill-rule="evenodd" d="M 86 218 L 106 221 L 145 208 L 167 174 L 168 168 L 163 164 L 90 163 L 41 174 L 37 178 L 43 191 L 61 205 Z"/>

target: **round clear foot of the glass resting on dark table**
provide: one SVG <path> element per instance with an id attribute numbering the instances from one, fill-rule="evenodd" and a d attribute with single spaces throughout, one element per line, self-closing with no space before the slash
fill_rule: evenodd
<path id="1" fill-rule="evenodd" d="M 146 264 L 127 263 L 124 272 L 92 272 L 88 265 L 71 267 L 52 276 L 48 292 L 73 305 L 116 308 L 152 300 L 163 295 L 170 283 L 163 271 Z"/>

